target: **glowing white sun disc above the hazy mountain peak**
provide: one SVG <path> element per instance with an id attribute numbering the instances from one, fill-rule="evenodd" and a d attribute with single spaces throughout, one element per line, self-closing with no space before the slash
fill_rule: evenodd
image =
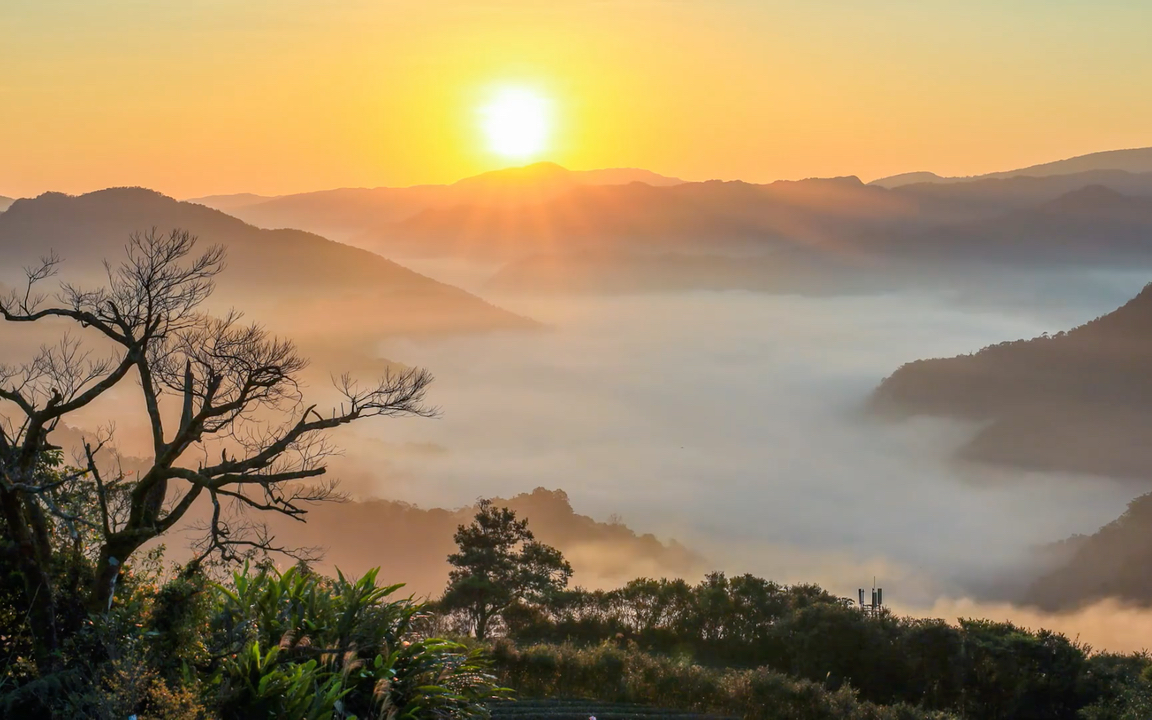
<path id="1" fill-rule="evenodd" d="M 525 160 L 547 149 L 552 132 L 552 103 L 528 88 L 503 88 L 480 108 L 480 128 L 488 150 Z"/>

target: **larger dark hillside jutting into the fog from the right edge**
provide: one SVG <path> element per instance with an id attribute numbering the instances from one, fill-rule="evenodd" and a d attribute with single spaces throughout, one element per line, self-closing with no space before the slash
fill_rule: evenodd
<path id="1" fill-rule="evenodd" d="M 983 424 L 968 460 L 1152 480 L 1152 286 L 1068 332 L 915 361 L 877 388 L 874 412 Z"/>

